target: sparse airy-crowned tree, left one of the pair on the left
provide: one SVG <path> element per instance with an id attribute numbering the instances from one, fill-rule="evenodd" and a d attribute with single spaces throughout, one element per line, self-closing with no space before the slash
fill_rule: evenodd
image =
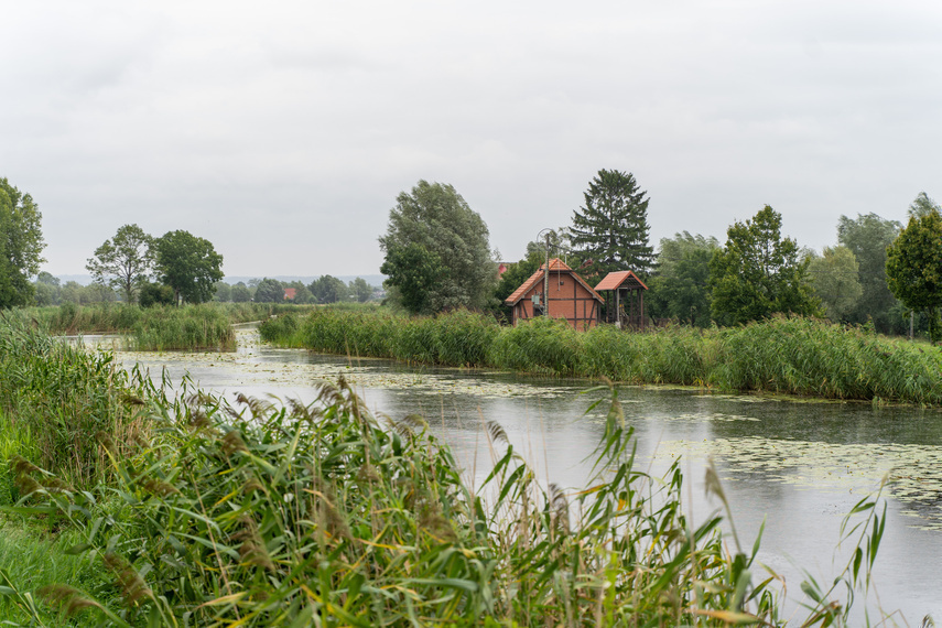
<path id="1" fill-rule="evenodd" d="M 85 268 L 97 283 L 120 290 L 124 303 L 133 303 L 153 268 L 151 238 L 137 225 L 124 225 L 110 240 L 95 249 Z"/>

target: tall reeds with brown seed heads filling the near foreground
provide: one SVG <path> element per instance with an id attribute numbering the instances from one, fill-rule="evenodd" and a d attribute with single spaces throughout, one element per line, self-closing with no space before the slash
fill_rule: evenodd
<path id="1" fill-rule="evenodd" d="M 29 591 L 0 570 L 20 617 L 111 626 L 784 626 L 780 580 L 758 540 L 723 535 L 721 511 L 683 513 L 678 465 L 636 468 L 613 390 L 588 489 L 541 486 L 495 423 L 494 467 L 469 488 L 413 416 L 378 421 L 340 379 L 304 405 L 151 391 L 151 444 L 115 481 L 76 491 L 25 459 L 15 507 L 76 531 L 95 583 Z M 710 490 L 724 505 L 715 473 Z M 846 625 L 866 598 L 885 510 L 862 500 L 834 586 L 802 584 L 804 626 Z M 734 528 L 735 530 L 735 528 Z M 859 555 L 859 557 L 857 557 Z M 43 600 L 32 603 L 32 600 Z"/>

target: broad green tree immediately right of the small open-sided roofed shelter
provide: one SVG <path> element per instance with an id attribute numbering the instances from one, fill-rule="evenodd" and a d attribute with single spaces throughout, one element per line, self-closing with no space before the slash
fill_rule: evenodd
<path id="1" fill-rule="evenodd" d="M 716 238 L 687 231 L 661 239 L 654 275 L 645 297 L 649 314 L 710 325 L 710 260 L 719 250 Z"/>

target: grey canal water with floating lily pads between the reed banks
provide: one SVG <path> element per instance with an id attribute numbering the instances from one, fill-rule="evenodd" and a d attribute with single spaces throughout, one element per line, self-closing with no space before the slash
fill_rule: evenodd
<path id="1" fill-rule="evenodd" d="M 107 343 L 105 343 L 107 344 Z M 483 425 L 498 422 L 543 483 L 585 486 L 607 411 L 607 390 L 592 382 L 507 372 L 407 367 L 260 345 L 239 334 L 234 354 L 117 351 L 130 367 L 171 381 L 184 375 L 229 398 L 275 396 L 313 401 L 321 381 L 343 376 L 377 414 L 421 413 L 479 483 L 489 453 Z M 723 480 L 745 548 L 762 524 L 759 561 L 786 577 L 789 608 L 804 599 L 806 571 L 825 588 L 853 543 L 835 550 L 844 516 L 883 481 L 886 532 L 866 607 L 871 620 L 918 626 L 942 620 L 942 413 L 918 408 L 825 403 L 672 388 L 621 387 L 638 459 L 657 475 L 680 456 L 689 513 L 702 520 L 719 505 L 704 496 L 708 459 Z M 592 411 L 589 407 L 602 401 Z M 854 539 L 856 542 L 856 537 Z M 760 573 L 756 574 L 758 578 Z M 862 600 L 855 624 L 863 621 Z M 798 611 L 798 617 L 804 617 Z"/>

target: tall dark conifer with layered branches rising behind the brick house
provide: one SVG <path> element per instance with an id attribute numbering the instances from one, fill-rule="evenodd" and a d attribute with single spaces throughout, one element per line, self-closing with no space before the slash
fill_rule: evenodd
<path id="1" fill-rule="evenodd" d="M 573 213 L 573 246 L 592 258 L 598 274 L 631 270 L 646 277 L 653 261 L 648 243 L 647 192 L 635 175 L 599 170 L 585 192 L 585 206 Z"/>

